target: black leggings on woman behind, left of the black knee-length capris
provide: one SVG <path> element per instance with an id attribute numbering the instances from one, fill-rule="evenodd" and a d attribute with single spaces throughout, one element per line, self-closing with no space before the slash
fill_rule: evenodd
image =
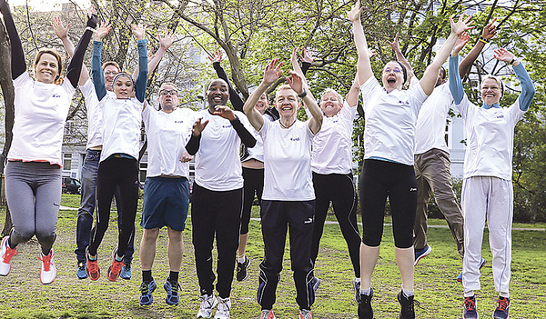
<path id="1" fill-rule="evenodd" d="M 360 277 L 360 233 L 357 224 L 357 192 L 352 174 L 317 174 L 313 172 L 315 187 L 315 226 L 311 244 L 311 259 L 313 264 L 319 254 L 320 237 L 330 201 L 338 219 L 341 234 L 349 247 L 350 261 L 353 264 L 355 277 Z"/>

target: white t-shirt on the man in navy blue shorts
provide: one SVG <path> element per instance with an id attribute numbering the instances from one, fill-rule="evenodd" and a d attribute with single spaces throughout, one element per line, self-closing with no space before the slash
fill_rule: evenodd
<path id="1" fill-rule="evenodd" d="M 189 178 L 189 163 L 179 161 L 191 136 L 195 112 L 176 108 L 171 113 L 157 111 L 151 105 L 142 111 L 147 135 L 147 176 L 185 176 Z"/>

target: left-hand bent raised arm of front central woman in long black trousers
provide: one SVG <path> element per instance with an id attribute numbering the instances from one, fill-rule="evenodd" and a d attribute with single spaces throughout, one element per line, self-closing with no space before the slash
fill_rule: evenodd
<path id="1" fill-rule="evenodd" d="M 266 70 L 264 71 L 264 79 L 258 85 L 258 88 L 248 96 L 247 102 L 243 106 L 243 110 L 248 117 L 250 124 L 259 131 L 264 125 L 264 117 L 254 108 L 258 103 L 259 96 L 263 95 L 268 89 L 269 85 L 272 85 L 277 81 L 278 77 L 282 74 L 280 67 L 282 62 L 278 63 L 278 59 L 273 59 L 266 65 Z"/>

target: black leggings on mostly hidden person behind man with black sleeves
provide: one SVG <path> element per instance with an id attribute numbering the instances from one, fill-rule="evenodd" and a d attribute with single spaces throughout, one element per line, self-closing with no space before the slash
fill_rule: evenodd
<path id="1" fill-rule="evenodd" d="M 261 203 L 261 194 L 264 190 L 264 169 L 243 167 L 243 214 L 241 215 L 240 234 L 248 234 L 250 223 L 250 211 L 254 202 L 254 194 L 258 196 L 258 204 Z"/>

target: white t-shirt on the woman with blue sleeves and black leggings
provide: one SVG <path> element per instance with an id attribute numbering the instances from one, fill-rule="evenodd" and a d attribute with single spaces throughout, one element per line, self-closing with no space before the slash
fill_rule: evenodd
<path id="1" fill-rule="evenodd" d="M 143 105 L 134 97 L 117 99 L 116 95 L 105 95 L 98 103 L 103 116 L 101 162 L 114 154 L 138 158 Z"/>

